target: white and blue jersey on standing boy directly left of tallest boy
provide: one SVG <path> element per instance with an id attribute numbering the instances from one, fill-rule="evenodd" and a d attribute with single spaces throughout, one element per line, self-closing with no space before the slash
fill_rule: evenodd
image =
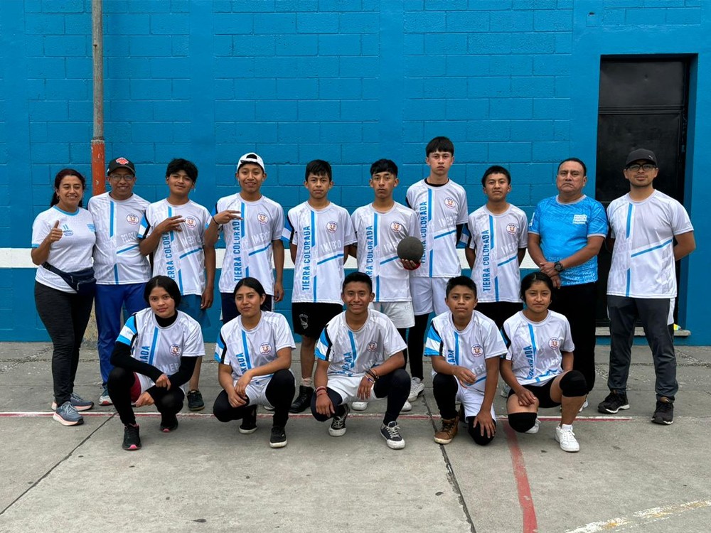
<path id="1" fill-rule="evenodd" d="M 412 301 L 410 271 L 397 257 L 397 244 L 417 236 L 415 211 L 395 203 L 387 212 L 363 205 L 353 212 L 358 238 L 358 270 L 373 281 L 375 302 Z"/>

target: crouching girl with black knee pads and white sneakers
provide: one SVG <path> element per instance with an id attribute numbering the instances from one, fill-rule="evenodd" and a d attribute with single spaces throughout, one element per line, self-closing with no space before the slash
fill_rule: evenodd
<path id="1" fill-rule="evenodd" d="M 501 360 L 501 377 L 511 387 L 508 394 L 508 424 L 515 431 L 538 433 L 540 407 L 562 405 L 555 440 L 563 451 L 579 451 L 573 421 L 587 397 L 581 372 L 572 370 L 574 345 L 567 318 L 548 311 L 553 282 L 542 272 L 521 280 L 525 309 L 503 323 L 508 345 Z"/>

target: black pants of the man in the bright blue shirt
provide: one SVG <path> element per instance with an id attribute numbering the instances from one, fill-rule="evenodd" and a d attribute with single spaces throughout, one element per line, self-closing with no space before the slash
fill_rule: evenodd
<path id="1" fill-rule="evenodd" d="M 595 386 L 595 303 L 597 283 L 563 286 L 553 290 L 552 311 L 565 315 L 575 345 L 573 370 L 585 377 L 588 392 Z"/>

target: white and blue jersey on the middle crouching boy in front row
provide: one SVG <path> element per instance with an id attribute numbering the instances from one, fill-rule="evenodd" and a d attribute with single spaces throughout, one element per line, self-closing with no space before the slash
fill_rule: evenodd
<path id="1" fill-rule="evenodd" d="M 328 375 L 362 379 L 365 371 L 391 355 L 407 349 L 397 328 L 387 315 L 368 309 L 365 324 L 353 331 L 346 322 L 346 311 L 331 318 L 316 343 L 316 357 L 328 361 Z"/>

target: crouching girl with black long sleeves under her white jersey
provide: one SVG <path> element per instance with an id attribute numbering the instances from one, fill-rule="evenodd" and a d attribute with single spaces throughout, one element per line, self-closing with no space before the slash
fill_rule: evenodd
<path id="1" fill-rule="evenodd" d="M 184 385 L 205 355 L 200 324 L 177 308 L 181 294 L 168 276 L 155 276 L 146 283 L 144 298 L 149 308 L 134 313 L 116 340 L 107 387 L 124 423 L 124 450 L 139 450 L 141 438 L 131 402 L 136 407 L 156 405 L 161 413 L 161 431 L 178 429 L 178 411 L 183 409 Z"/>

